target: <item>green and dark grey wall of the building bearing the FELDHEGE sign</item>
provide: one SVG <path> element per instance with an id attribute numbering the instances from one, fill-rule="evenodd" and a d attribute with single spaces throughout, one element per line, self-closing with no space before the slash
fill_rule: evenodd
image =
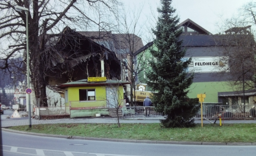
<path id="1" fill-rule="evenodd" d="M 152 59 L 150 49 L 157 48 L 153 45 L 146 49 L 145 52 L 138 54 L 138 58 L 142 58 L 143 61 Z M 223 47 L 219 46 L 205 46 L 205 47 L 186 47 L 185 57 L 216 57 L 223 56 Z M 142 61 L 142 62 L 143 62 Z M 148 70 L 146 67 L 144 71 Z M 233 92 L 237 88 L 230 87 L 227 83 L 228 72 L 200 72 L 195 73 L 193 84 L 189 87 L 189 98 L 196 98 L 197 94 L 206 93 L 207 98 L 204 102 L 218 103 L 218 92 Z M 141 72 L 138 76 L 138 83 L 145 83 L 145 72 Z"/>

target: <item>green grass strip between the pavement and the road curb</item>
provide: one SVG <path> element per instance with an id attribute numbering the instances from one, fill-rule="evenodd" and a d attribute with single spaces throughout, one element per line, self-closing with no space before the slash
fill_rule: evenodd
<path id="1" fill-rule="evenodd" d="M 37 124 L 9 127 L 34 133 L 113 139 L 187 142 L 256 142 L 256 124 L 197 124 L 191 128 L 162 128 L 160 124 Z"/>

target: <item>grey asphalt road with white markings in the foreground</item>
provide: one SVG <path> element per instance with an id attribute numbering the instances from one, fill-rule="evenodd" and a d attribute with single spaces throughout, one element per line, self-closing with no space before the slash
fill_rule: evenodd
<path id="1" fill-rule="evenodd" d="M 2 131 L 4 156 L 256 156 L 256 146 L 143 144 L 62 139 Z"/>

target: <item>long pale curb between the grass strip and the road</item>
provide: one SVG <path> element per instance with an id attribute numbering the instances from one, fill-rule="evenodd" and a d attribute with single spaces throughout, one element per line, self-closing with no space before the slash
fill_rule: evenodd
<path id="1" fill-rule="evenodd" d="M 2 128 L 3 131 L 28 134 L 34 136 L 47 136 L 55 138 L 65 139 L 80 139 L 80 140 L 94 140 L 94 141 L 107 141 L 107 142 L 129 142 L 129 143 L 145 143 L 145 144 L 189 144 L 189 145 L 235 145 L 235 146 L 256 146 L 256 142 L 173 142 L 173 141 L 153 141 L 153 140 L 132 140 L 132 139 L 110 139 L 110 138 L 94 138 L 94 137 L 83 137 L 83 136 L 62 136 L 54 134 L 43 134 L 43 133 L 32 133 L 23 132 L 18 130 L 10 130 Z"/>

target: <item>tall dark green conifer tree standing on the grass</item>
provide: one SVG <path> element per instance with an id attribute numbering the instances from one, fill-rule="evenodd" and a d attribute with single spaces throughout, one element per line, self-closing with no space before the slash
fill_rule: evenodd
<path id="1" fill-rule="evenodd" d="M 198 99 L 187 97 L 193 75 L 188 73 L 191 58 L 184 61 L 186 49 L 182 47 L 179 18 L 172 0 L 161 0 L 162 8 L 156 29 L 153 30 L 157 50 L 151 50 L 153 60 L 149 61 L 151 70 L 146 72 L 148 85 L 154 93 L 152 102 L 157 112 L 167 115 L 161 120 L 164 127 L 190 127 L 195 125 L 193 116 L 198 112 Z"/>

